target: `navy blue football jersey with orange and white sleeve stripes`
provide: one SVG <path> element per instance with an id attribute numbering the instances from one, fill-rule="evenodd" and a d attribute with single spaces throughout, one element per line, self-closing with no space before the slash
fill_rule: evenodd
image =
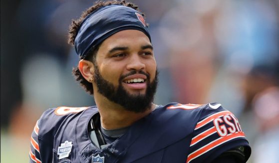
<path id="1" fill-rule="evenodd" d="M 88 124 L 96 106 L 45 111 L 31 136 L 30 163 L 210 163 L 226 151 L 251 149 L 237 118 L 220 104 L 159 106 L 100 150 Z"/>

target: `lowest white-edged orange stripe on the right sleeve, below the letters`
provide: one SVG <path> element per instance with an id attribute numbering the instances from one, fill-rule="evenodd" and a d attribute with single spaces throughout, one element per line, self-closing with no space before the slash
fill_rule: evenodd
<path id="1" fill-rule="evenodd" d="M 223 143 L 226 143 L 226 142 L 228 142 L 232 139 L 241 138 L 241 137 L 245 138 L 245 134 L 243 132 L 230 134 L 226 137 L 221 137 L 219 139 L 216 139 L 215 141 L 207 144 L 206 146 L 204 146 L 204 147 L 198 149 L 197 151 L 193 152 L 192 154 L 188 155 L 186 163 L 190 163 L 192 160 L 194 160 L 194 159 L 198 158 L 199 156 L 207 153 L 208 151 L 212 150 L 213 148 L 222 145 Z"/>

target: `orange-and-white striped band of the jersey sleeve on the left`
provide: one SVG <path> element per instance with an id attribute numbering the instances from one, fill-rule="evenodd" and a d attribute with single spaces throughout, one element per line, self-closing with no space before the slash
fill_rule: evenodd
<path id="1" fill-rule="evenodd" d="M 38 133 L 39 133 L 39 127 L 37 121 L 30 138 L 31 143 L 30 143 L 30 151 L 29 151 L 29 159 L 30 159 L 29 163 L 41 163 Z"/>

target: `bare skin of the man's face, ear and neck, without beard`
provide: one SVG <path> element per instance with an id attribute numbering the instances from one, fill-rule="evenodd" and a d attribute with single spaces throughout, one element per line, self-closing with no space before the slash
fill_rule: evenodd
<path id="1" fill-rule="evenodd" d="M 131 71 L 144 71 L 154 80 L 156 74 L 156 61 L 153 55 L 153 47 L 149 38 L 139 30 L 123 30 L 107 38 L 100 45 L 96 55 L 96 61 L 100 74 L 104 79 L 118 86 L 120 75 Z M 79 70 L 88 81 L 94 75 L 94 63 L 87 60 L 79 61 Z M 122 85 L 130 94 L 145 94 L 146 82 L 141 84 L 129 84 L 127 80 L 146 79 L 144 75 L 135 74 L 123 79 Z M 93 81 L 94 99 L 98 106 L 101 124 L 107 130 L 131 126 L 134 122 L 147 116 L 155 109 L 152 104 L 143 113 L 127 111 L 121 105 L 116 104 L 98 92 Z"/>

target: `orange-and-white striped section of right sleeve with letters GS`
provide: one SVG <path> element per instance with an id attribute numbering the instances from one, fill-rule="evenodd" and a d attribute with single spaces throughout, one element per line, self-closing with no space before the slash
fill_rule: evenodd
<path id="1" fill-rule="evenodd" d="M 221 104 L 214 106 L 219 108 Z M 191 153 L 188 155 L 186 163 L 200 163 L 199 158 L 205 159 L 207 155 L 212 154 L 213 149 L 226 146 L 224 144 L 237 139 L 246 138 L 233 113 L 224 110 L 211 114 L 197 123 L 190 144 Z"/>

